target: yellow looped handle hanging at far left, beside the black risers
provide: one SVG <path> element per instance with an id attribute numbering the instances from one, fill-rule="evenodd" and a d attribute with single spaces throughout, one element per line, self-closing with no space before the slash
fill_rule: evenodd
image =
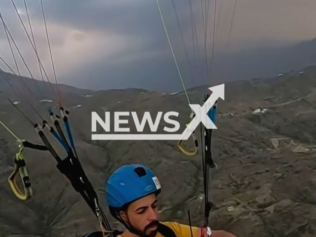
<path id="1" fill-rule="evenodd" d="M 28 200 L 30 199 L 30 197 L 32 197 L 33 191 L 31 188 L 31 182 L 30 182 L 30 178 L 29 178 L 28 171 L 26 168 L 26 163 L 23 157 L 24 146 L 21 140 L 19 140 L 18 143 L 19 143 L 19 151 L 15 155 L 14 169 L 8 178 L 8 182 L 9 182 L 12 192 L 14 193 L 16 197 L 18 197 L 21 200 Z M 18 188 L 16 184 L 15 178 L 16 178 L 17 173 L 20 173 L 21 180 L 23 183 L 24 193 L 20 191 L 20 189 Z"/>

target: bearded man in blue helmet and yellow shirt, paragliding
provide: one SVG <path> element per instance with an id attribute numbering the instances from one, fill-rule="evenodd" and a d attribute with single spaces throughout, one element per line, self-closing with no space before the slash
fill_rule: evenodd
<path id="1" fill-rule="evenodd" d="M 236 237 L 206 227 L 160 223 L 157 207 L 160 190 L 158 178 L 141 164 L 124 165 L 110 176 L 106 198 L 110 213 L 126 228 L 121 237 Z"/>

